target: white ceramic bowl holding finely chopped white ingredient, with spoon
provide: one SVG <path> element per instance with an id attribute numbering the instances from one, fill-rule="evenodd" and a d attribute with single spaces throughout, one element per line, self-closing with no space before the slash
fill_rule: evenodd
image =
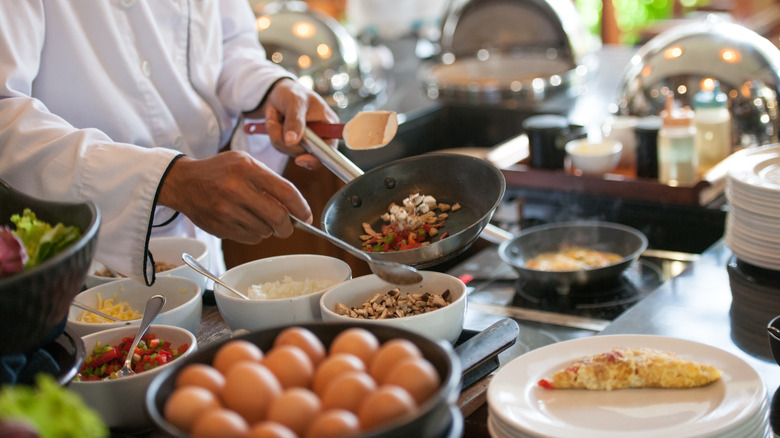
<path id="1" fill-rule="evenodd" d="M 316 254 L 268 257 L 229 269 L 220 280 L 243 294 L 252 285 L 282 281 L 330 280 L 335 284 L 352 278 L 349 265 L 337 258 Z M 217 308 L 232 330 L 261 330 L 286 324 L 320 321 L 319 301 L 327 289 L 294 298 L 245 300 L 219 284 L 214 285 Z"/>

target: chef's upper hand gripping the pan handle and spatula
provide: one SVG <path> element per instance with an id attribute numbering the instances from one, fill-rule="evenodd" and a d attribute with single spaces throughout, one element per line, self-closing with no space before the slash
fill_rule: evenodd
<path id="1" fill-rule="evenodd" d="M 295 164 L 306 169 L 316 169 L 321 164 L 300 144 L 306 122 L 338 123 L 338 116 L 319 94 L 293 79 L 277 82 L 263 106 L 246 115 L 250 118 L 265 118 L 265 126 L 274 148 L 295 157 Z M 336 144 L 331 142 L 333 147 Z"/>

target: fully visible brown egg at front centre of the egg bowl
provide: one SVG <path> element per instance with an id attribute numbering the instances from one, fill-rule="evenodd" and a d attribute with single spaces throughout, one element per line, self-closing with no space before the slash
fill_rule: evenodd
<path id="1" fill-rule="evenodd" d="M 302 436 L 320 413 L 320 399 L 309 389 L 290 388 L 276 397 L 268 407 L 268 421 L 287 426 Z"/>

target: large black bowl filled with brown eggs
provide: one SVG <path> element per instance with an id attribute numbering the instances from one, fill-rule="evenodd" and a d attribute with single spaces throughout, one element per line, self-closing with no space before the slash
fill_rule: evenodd
<path id="1" fill-rule="evenodd" d="M 408 339 L 420 348 L 423 356 L 438 371 L 441 379 L 439 391 L 421 404 L 415 413 L 398 419 L 391 425 L 368 431 L 368 433 L 360 435 L 361 438 L 438 437 L 445 434 L 446 430 L 451 427 L 452 414 L 450 410 L 460 391 L 461 365 L 449 343 L 433 341 L 408 330 L 374 324 L 319 322 L 296 324 L 296 326 L 311 330 L 320 338 L 326 348 L 339 333 L 351 327 L 362 327 L 370 331 L 379 339 L 380 343 L 395 338 Z M 276 335 L 285 328 L 286 326 L 260 330 L 233 339 L 250 341 L 259 346 L 261 350 L 268 351 L 273 345 Z M 172 363 L 173 366 L 155 376 L 146 392 L 146 410 L 149 417 L 160 429 L 175 437 L 189 436 L 165 420 L 162 414 L 165 400 L 173 392 L 176 375 L 182 367 L 192 363 L 211 364 L 214 354 L 226 342 L 228 340 L 211 344 L 208 348 L 199 350 L 186 359 L 177 360 Z"/>

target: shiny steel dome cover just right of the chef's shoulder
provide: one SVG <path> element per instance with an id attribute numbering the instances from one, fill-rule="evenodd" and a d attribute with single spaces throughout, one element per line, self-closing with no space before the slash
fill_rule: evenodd
<path id="1" fill-rule="evenodd" d="M 330 16 L 302 1 L 276 1 L 257 14 L 258 38 L 271 61 L 298 76 L 333 108 L 384 90 L 361 63 L 357 41 Z"/>

